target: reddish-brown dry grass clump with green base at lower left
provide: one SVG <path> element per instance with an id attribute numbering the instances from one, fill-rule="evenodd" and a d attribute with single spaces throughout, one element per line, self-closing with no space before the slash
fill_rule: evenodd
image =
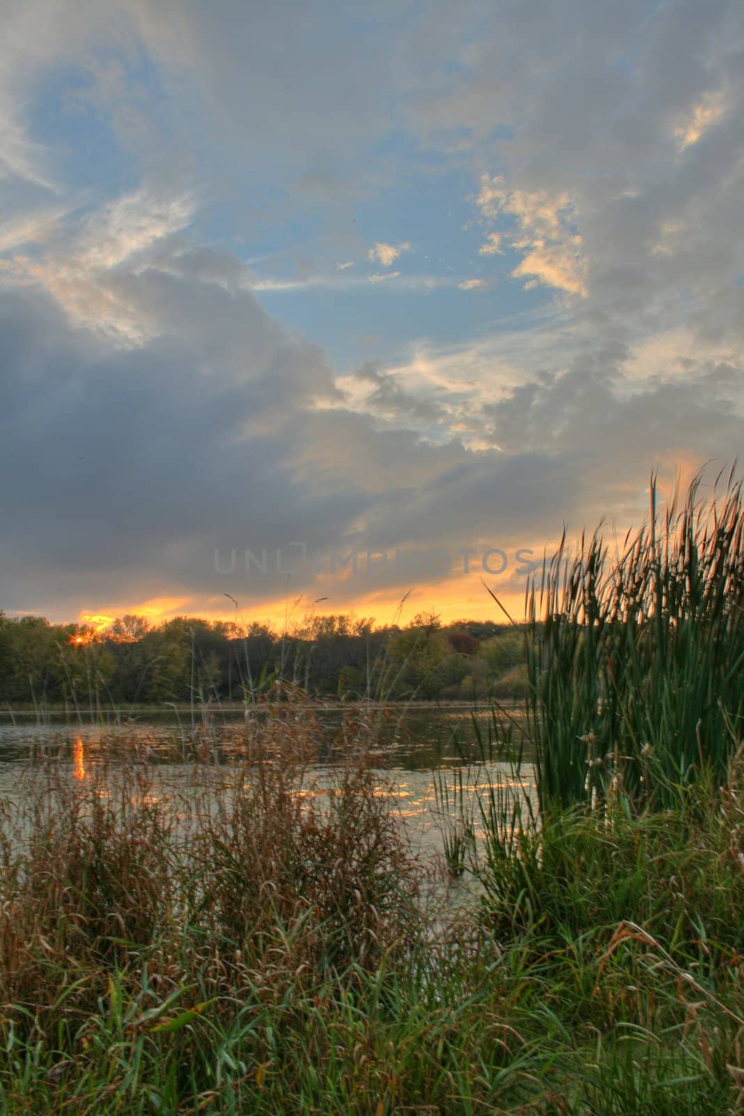
<path id="1" fill-rule="evenodd" d="M 57 761 L 3 804 L 0 1112 L 256 1110 L 270 1081 L 284 1110 L 329 1056 L 353 1062 L 342 1036 L 370 1046 L 360 1004 L 381 1021 L 410 966 L 421 865 L 359 749 L 314 779 L 298 699 L 243 743 L 166 782 Z"/>

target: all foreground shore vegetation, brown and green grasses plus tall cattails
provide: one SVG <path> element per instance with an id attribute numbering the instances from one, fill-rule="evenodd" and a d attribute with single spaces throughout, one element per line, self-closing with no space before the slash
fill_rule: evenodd
<path id="1" fill-rule="evenodd" d="M 615 612 L 594 547 L 544 598 L 529 739 L 495 709 L 515 780 L 447 799 L 439 886 L 373 720 L 319 783 L 298 693 L 239 768 L 32 772 L 0 840 L 0 1112 L 744 1110 L 743 518 L 732 490 L 708 543 L 694 499 L 630 540 Z M 476 877 L 462 910 L 444 867 Z"/>

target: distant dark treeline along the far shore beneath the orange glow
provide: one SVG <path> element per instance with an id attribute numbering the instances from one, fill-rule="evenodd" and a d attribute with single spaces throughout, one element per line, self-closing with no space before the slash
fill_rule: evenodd
<path id="1" fill-rule="evenodd" d="M 353 701 L 507 698 L 525 679 L 519 627 L 418 615 L 378 627 L 313 616 L 277 634 L 260 624 L 123 616 L 102 632 L 0 612 L 0 705 L 101 708 L 245 701 L 282 679 L 313 696 Z"/>

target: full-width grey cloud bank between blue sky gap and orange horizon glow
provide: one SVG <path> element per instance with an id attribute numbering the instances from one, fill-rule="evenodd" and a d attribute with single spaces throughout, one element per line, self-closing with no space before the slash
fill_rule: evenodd
<path id="1" fill-rule="evenodd" d="M 158 244 L 148 267 L 117 266 L 133 312 L 147 307 L 157 323 L 138 347 L 71 327 L 48 295 L 0 298 L 10 609 L 110 615 L 124 584 L 128 602 L 196 610 L 225 588 L 254 608 L 275 599 L 276 577 L 215 571 L 215 549 L 225 565 L 233 547 L 539 550 L 564 519 L 578 530 L 608 507 L 642 514 L 649 462 L 736 450 L 744 369 L 698 348 L 681 387 L 689 338 L 588 347 L 571 365 L 577 327 L 557 353 L 549 330 L 515 330 L 400 369 L 368 363 L 345 396 L 316 346 L 215 281 L 226 261 L 182 243 L 160 253 L 164 270 Z M 555 371 L 530 372 L 550 357 Z M 404 581 L 391 564 L 380 586 Z M 292 591 L 314 584 L 312 569 L 295 574 Z M 333 591 L 352 602 L 371 585 L 360 576 Z"/>

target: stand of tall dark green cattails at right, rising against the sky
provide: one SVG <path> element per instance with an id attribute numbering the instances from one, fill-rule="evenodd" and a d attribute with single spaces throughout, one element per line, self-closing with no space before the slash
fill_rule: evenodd
<path id="1" fill-rule="evenodd" d="M 730 475 L 699 479 L 664 517 L 610 550 L 566 540 L 527 596 L 527 732 L 541 804 L 621 795 L 670 805 L 708 770 L 723 778 L 744 716 L 744 507 Z"/>

